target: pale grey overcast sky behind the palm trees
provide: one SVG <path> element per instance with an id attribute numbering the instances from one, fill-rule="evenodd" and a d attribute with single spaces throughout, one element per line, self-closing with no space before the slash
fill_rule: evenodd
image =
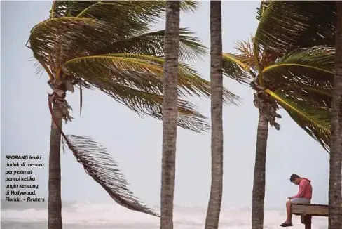
<path id="1" fill-rule="evenodd" d="M 4 199 L 4 155 L 42 155 L 45 168 L 36 169 L 39 195 L 46 197 L 50 139 L 50 92 L 47 74 L 36 75 L 32 53 L 25 43 L 29 31 L 48 18 L 50 1 L 1 1 L 1 199 Z M 249 39 L 257 28 L 259 1 L 224 1 L 222 4 L 224 51 L 233 52 L 234 42 Z M 195 14 L 181 15 L 181 26 L 196 31 L 210 45 L 209 2 L 203 1 Z M 164 27 L 163 22 L 156 30 Z M 194 64 L 210 79 L 210 58 Z M 228 89 L 244 100 L 240 107 L 224 107 L 224 199 L 227 207 L 252 204 L 255 141 L 258 112 L 252 90 L 225 79 Z M 65 133 L 95 138 L 111 152 L 130 183 L 131 190 L 146 204 L 160 202 L 162 124 L 140 118 L 98 91 L 83 93 L 79 117 L 78 92 L 68 93 L 74 108 L 73 122 Z M 196 101 L 210 117 L 210 100 Z M 310 178 L 313 202 L 327 203 L 329 155 L 285 111 L 280 112 L 281 131 L 268 134 L 266 164 L 266 207 L 282 207 L 297 186 L 289 183 L 292 173 Z M 210 133 L 179 129 L 175 204 L 206 205 L 210 193 Z M 62 155 L 62 199 L 68 201 L 112 201 L 78 164 L 71 152 Z"/>

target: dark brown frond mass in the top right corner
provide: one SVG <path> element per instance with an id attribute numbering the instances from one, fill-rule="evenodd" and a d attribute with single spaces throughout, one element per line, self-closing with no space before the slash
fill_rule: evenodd
<path id="1" fill-rule="evenodd" d="M 269 1 L 255 34 L 255 41 L 280 55 L 297 48 L 334 45 L 334 1 Z"/>

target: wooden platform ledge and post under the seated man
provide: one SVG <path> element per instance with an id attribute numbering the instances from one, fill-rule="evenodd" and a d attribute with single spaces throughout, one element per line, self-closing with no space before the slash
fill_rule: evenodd
<path id="1" fill-rule="evenodd" d="M 292 204 L 292 214 L 301 216 L 301 223 L 305 229 L 311 229 L 311 218 L 313 216 L 328 217 L 329 207 L 322 204 Z"/>

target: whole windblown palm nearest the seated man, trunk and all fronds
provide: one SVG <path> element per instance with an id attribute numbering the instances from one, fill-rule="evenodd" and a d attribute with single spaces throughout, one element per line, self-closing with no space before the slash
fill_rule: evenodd
<path id="1" fill-rule="evenodd" d="M 252 43 L 224 53 L 224 73 L 249 83 L 259 109 L 252 200 L 252 228 L 263 228 L 268 124 L 279 105 L 310 136 L 329 148 L 334 76 L 334 2 L 262 1 Z"/>

